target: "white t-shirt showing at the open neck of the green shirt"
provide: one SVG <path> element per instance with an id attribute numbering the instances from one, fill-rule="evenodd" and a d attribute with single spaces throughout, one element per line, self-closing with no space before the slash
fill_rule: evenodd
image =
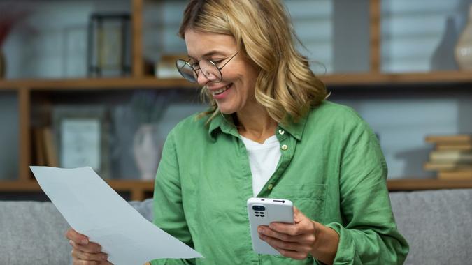
<path id="1" fill-rule="evenodd" d="M 249 165 L 252 173 L 252 192 L 257 196 L 266 184 L 273 172 L 276 172 L 278 160 L 282 153 L 276 135 L 266 139 L 264 144 L 259 144 L 241 136 L 248 151 Z"/>

